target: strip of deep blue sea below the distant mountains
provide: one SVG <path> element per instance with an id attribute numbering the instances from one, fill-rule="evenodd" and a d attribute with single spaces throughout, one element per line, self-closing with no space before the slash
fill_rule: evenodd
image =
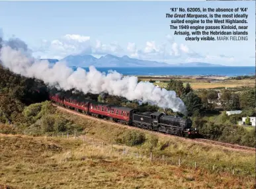
<path id="1" fill-rule="evenodd" d="M 77 68 L 77 67 L 76 67 Z M 76 69 L 72 67 L 72 69 Z M 89 67 L 81 67 L 89 71 Z M 116 71 L 124 76 L 136 77 L 203 77 L 203 78 L 222 78 L 237 76 L 255 75 L 255 67 L 95 67 L 101 73 L 111 73 Z"/>

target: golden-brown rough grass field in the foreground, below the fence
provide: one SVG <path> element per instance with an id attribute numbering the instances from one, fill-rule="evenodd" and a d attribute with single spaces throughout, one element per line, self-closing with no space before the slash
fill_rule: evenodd
<path id="1" fill-rule="evenodd" d="M 13 188 L 254 186 L 246 176 L 162 165 L 110 151 L 110 145 L 101 148 L 77 139 L 0 135 L 0 141 L 0 184 Z"/>

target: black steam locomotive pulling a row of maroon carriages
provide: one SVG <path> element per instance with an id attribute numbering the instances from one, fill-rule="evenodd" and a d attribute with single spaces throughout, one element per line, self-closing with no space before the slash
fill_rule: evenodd
<path id="1" fill-rule="evenodd" d="M 105 118 L 146 130 L 183 137 L 195 137 L 198 134 L 198 131 L 192 128 L 192 121 L 189 118 L 184 119 L 176 116 L 167 116 L 162 112 L 139 112 L 134 108 L 85 100 L 79 94 L 67 95 L 58 91 L 50 91 L 49 99 L 60 106 L 89 116 Z"/>

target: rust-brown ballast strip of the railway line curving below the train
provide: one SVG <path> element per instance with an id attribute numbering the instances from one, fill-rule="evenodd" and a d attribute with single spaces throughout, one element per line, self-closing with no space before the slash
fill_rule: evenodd
<path id="1" fill-rule="evenodd" d="M 144 130 L 144 129 L 141 129 L 141 128 L 125 126 L 125 125 L 118 124 L 118 123 L 115 123 L 115 122 L 110 122 L 108 120 L 102 120 L 102 119 L 99 119 L 99 118 L 94 118 L 92 116 L 87 116 L 85 114 L 81 114 L 79 112 L 76 112 L 75 110 L 69 110 L 67 108 L 64 108 L 62 106 L 58 106 L 56 104 L 53 104 L 53 105 L 56 106 L 59 110 L 62 110 L 62 111 L 65 111 L 65 112 L 69 112 L 71 114 L 75 114 L 75 115 L 81 116 L 83 118 L 88 118 L 88 119 L 91 119 L 91 120 L 96 120 L 97 122 L 112 124 L 112 125 L 115 125 L 115 126 L 118 126 L 118 127 L 125 127 L 125 128 L 128 128 L 128 129 L 140 130 L 140 131 L 143 131 L 143 132 L 146 131 L 146 132 L 154 133 L 156 135 L 161 135 L 161 136 L 164 136 L 164 137 L 177 137 L 177 138 L 182 139 L 184 141 L 190 141 L 190 142 L 193 142 L 193 143 L 200 143 L 202 145 L 210 145 L 210 146 L 221 147 L 222 149 L 229 149 L 229 150 L 232 150 L 232 151 L 242 151 L 242 152 L 247 152 L 247 153 L 255 153 L 255 148 L 253 148 L 253 147 L 245 147 L 245 146 L 234 145 L 234 144 L 230 144 L 230 143 L 222 143 L 222 142 L 212 141 L 212 140 L 208 140 L 208 139 L 188 139 L 188 138 L 184 138 L 184 137 L 178 137 L 178 136 L 175 136 L 175 135 L 169 135 L 169 134 L 165 134 L 165 133 L 153 132 L 153 131 Z"/>

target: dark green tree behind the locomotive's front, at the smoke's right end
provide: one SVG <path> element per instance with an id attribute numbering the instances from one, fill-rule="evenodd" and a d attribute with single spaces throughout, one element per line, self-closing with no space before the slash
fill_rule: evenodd
<path id="1" fill-rule="evenodd" d="M 200 112 L 202 110 L 202 100 L 193 92 L 183 95 L 182 100 L 187 106 L 189 116 L 191 116 L 196 111 Z"/>

